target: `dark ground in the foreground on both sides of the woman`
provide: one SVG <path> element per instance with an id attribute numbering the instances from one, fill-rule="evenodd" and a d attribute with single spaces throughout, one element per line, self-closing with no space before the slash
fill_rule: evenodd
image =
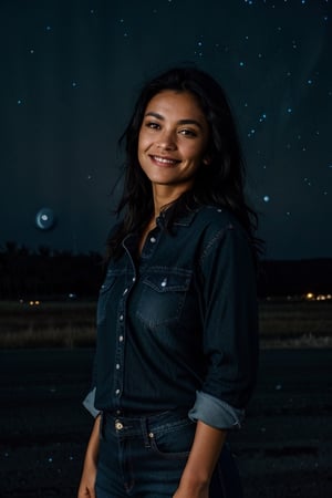
<path id="1" fill-rule="evenodd" d="M 0 352 L 0 497 L 74 498 L 92 418 L 92 350 Z M 229 437 L 246 498 L 332 496 L 332 350 L 266 350 Z M 157 498 L 157 497 L 156 497 Z"/>

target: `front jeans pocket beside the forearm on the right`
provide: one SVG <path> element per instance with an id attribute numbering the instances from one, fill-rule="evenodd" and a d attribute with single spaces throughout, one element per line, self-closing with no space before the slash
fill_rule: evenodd
<path id="1" fill-rule="evenodd" d="M 196 430 L 196 423 L 189 418 L 167 424 L 151 433 L 152 450 L 167 459 L 189 456 Z"/>

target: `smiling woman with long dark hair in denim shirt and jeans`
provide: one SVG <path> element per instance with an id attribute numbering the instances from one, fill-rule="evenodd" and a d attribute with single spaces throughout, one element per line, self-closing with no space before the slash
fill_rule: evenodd
<path id="1" fill-rule="evenodd" d="M 224 91 L 170 70 L 143 89 L 123 139 L 79 498 L 238 498 L 225 439 L 257 371 L 257 245 Z"/>

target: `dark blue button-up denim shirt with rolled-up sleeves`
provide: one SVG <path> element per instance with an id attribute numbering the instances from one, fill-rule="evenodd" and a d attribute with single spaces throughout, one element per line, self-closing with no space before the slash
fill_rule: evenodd
<path id="1" fill-rule="evenodd" d="M 240 426 L 258 361 L 256 270 L 248 236 L 227 210 L 201 207 L 146 239 L 127 236 L 97 304 L 92 414 L 186 409 Z"/>

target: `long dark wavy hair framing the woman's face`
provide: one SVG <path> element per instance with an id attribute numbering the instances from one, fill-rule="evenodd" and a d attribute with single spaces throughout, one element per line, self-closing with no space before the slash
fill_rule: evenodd
<path id="1" fill-rule="evenodd" d="M 108 257 L 122 252 L 123 238 L 141 232 L 154 214 L 149 179 L 139 166 L 137 157 L 138 135 L 148 102 L 165 90 L 190 92 L 197 98 L 209 124 L 207 154 L 209 165 L 196 173 L 190 190 L 185 191 L 172 207 L 169 228 L 177 215 L 201 205 L 215 205 L 229 209 L 249 234 L 253 248 L 257 215 L 247 205 L 243 194 L 245 165 L 241 147 L 232 117 L 221 86 L 206 72 L 193 66 L 175 68 L 148 82 L 142 90 L 132 118 L 120 143 L 125 144 L 125 178 L 117 216 L 124 211 L 123 221 L 108 239 Z"/>

